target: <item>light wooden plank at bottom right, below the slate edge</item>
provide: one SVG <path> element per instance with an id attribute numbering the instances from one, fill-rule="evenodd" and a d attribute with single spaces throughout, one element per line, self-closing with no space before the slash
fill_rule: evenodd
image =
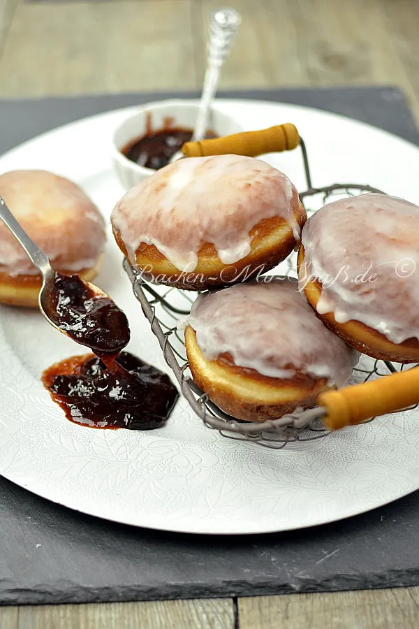
<path id="1" fill-rule="evenodd" d="M 419 626 L 419 588 L 242 598 L 240 629 L 394 629 Z"/>

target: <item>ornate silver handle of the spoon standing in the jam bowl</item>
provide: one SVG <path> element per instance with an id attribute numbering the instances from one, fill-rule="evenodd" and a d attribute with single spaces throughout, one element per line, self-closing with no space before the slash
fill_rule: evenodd
<path id="1" fill-rule="evenodd" d="M 230 52 L 241 20 L 239 13 L 232 8 L 221 8 L 210 15 L 207 71 L 205 72 L 198 118 L 191 138 L 193 142 L 205 137 L 210 105 L 219 84 L 221 66 Z"/>

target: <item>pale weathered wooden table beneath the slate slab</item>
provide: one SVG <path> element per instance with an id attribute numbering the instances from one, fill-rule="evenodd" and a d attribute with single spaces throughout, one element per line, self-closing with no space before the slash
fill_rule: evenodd
<path id="1" fill-rule="evenodd" d="M 224 89 L 397 85 L 419 120 L 416 0 L 228 0 Z M 217 0 L 0 0 L 0 97 L 199 89 Z M 0 629 L 419 626 L 419 588 L 3 607 Z"/>

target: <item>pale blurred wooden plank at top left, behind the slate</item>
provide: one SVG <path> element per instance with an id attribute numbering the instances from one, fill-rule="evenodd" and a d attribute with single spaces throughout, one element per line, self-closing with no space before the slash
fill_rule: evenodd
<path id="1" fill-rule="evenodd" d="M 193 0 L 22 3 L 1 96 L 193 89 Z"/>

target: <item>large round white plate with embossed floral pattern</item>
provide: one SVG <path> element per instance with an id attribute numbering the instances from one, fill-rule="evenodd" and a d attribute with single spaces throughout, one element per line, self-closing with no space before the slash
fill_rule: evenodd
<path id="1" fill-rule="evenodd" d="M 314 185 L 369 183 L 419 203 L 419 149 L 344 117 L 286 104 L 219 101 L 247 129 L 294 122 Z M 68 124 L 8 152 L 0 172 L 46 168 L 78 182 L 109 217 L 122 189 L 110 138 L 131 109 Z M 267 157 L 304 187 L 299 152 Z M 124 308 L 128 349 L 166 369 L 110 236 L 97 283 Z M 187 533 L 265 533 L 365 512 L 419 488 L 419 412 L 376 419 L 285 451 L 204 428 L 181 400 L 151 432 L 95 431 L 67 421 L 41 371 L 83 353 L 38 312 L 0 308 L 0 472 L 39 496 L 119 522 Z"/>

